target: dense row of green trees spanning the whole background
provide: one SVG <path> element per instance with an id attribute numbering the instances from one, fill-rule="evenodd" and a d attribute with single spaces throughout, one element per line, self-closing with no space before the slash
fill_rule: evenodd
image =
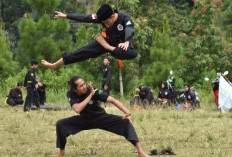
<path id="1" fill-rule="evenodd" d="M 100 25 L 53 20 L 54 10 L 91 14 L 104 3 L 129 13 L 135 23 L 133 43 L 139 56 L 123 62 L 126 92 L 141 84 L 157 87 L 170 70 L 181 78 L 178 79 L 181 83 L 199 84 L 209 73 L 230 71 L 232 4 L 229 0 L 0 0 L 1 80 L 24 73 L 21 69 L 28 68 L 32 58 L 53 62 L 63 51 L 88 44 L 102 31 Z M 111 64 L 114 91 L 119 91 L 117 60 L 112 59 Z M 102 57 L 65 66 L 56 72 L 39 69 L 44 76 L 42 80 L 54 88 L 66 86 L 60 81 L 79 74 L 100 84 Z"/>

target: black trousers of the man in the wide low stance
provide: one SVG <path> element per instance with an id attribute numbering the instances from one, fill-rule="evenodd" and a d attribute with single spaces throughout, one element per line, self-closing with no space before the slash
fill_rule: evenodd
<path id="1" fill-rule="evenodd" d="M 122 119 L 121 116 L 102 114 L 98 118 L 88 120 L 83 116 L 73 116 L 57 121 L 57 148 L 64 149 L 66 138 L 83 130 L 102 129 L 117 135 L 124 136 L 133 145 L 138 142 L 138 137 L 133 125 L 128 119 Z"/>

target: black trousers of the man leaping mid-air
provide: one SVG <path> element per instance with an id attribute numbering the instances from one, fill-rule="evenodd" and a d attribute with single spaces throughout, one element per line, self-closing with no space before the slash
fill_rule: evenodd
<path id="1" fill-rule="evenodd" d="M 114 45 L 114 44 L 111 44 Z M 133 48 L 132 44 L 129 45 L 127 51 L 124 51 L 122 48 L 115 46 L 113 52 L 110 52 L 111 56 L 115 57 L 116 59 L 134 59 L 137 57 L 137 51 Z M 97 41 L 82 47 L 78 50 L 75 50 L 70 53 L 63 53 L 63 61 L 64 64 L 72 64 L 75 62 L 80 62 L 87 60 L 89 58 L 96 58 L 102 54 L 107 53 L 108 51 L 102 47 Z"/>

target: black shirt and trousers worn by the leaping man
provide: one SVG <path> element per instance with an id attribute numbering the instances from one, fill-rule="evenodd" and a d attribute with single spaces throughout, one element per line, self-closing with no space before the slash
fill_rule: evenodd
<path id="1" fill-rule="evenodd" d="M 134 36 L 134 23 L 131 20 L 131 17 L 123 13 L 121 11 L 114 11 L 118 13 L 118 19 L 115 21 L 114 25 L 110 28 L 106 28 L 103 23 L 96 17 L 96 14 L 92 15 L 74 15 L 68 14 L 67 19 L 75 20 L 77 22 L 87 22 L 87 23 L 98 23 L 103 24 L 105 27 L 105 40 L 111 45 L 116 47 L 113 52 L 110 54 L 121 60 L 125 59 L 134 59 L 137 57 L 137 51 L 134 49 L 131 40 Z M 129 47 L 127 51 L 118 47 L 119 43 L 124 43 L 125 41 L 129 41 Z M 75 62 L 80 62 L 83 60 L 87 60 L 89 58 L 96 58 L 108 51 L 102 47 L 97 41 L 89 44 L 88 46 L 82 47 L 78 50 L 75 50 L 71 53 L 63 53 L 63 61 L 64 64 L 72 64 Z"/>

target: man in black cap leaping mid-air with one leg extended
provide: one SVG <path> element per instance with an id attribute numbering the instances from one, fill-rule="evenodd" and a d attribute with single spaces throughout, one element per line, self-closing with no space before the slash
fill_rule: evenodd
<path id="1" fill-rule="evenodd" d="M 55 63 L 42 60 L 41 63 L 47 68 L 55 69 L 60 65 L 81 62 L 89 58 L 96 58 L 109 52 L 116 59 L 134 59 L 137 57 L 137 50 L 134 49 L 132 38 L 134 36 L 134 23 L 130 15 L 112 8 L 105 4 L 95 14 L 64 14 L 55 11 L 55 19 L 71 19 L 77 22 L 102 24 L 105 31 L 96 35 L 96 41 L 75 50 L 71 53 L 63 53 L 62 58 Z"/>

